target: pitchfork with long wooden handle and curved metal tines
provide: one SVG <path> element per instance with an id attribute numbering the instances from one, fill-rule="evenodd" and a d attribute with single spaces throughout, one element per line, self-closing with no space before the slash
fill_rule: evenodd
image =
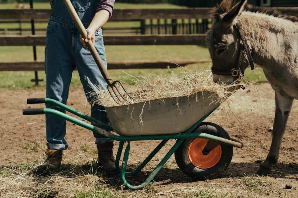
<path id="1" fill-rule="evenodd" d="M 82 23 L 82 21 L 80 20 L 79 16 L 77 15 L 77 12 L 75 11 L 72 3 L 70 0 L 63 0 L 63 3 L 65 4 L 69 14 L 72 17 L 72 20 L 75 22 L 75 25 L 77 26 L 77 29 L 79 30 L 80 34 L 82 35 L 82 37 L 84 39 L 86 39 L 86 37 L 88 36 L 87 31 Z M 93 45 L 93 42 L 91 40 L 89 40 L 89 42 L 86 42 L 86 46 L 88 47 L 89 51 L 91 52 L 101 74 L 103 75 L 103 78 L 105 79 L 105 81 L 108 84 L 108 92 L 110 93 L 111 97 L 113 98 L 113 100 L 120 104 L 120 103 L 131 103 L 131 100 L 136 101 L 134 98 L 132 98 L 125 90 L 125 88 L 123 87 L 122 83 L 120 81 L 113 81 L 111 79 L 111 75 L 108 73 L 108 71 L 105 68 L 105 65 L 103 64 L 102 59 L 100 58 L 99 54 L 97 53 L 96 48 Z M 123 90 L 123 95 L 121 94 L 121 92 L 119 91 L 119 89 L 117 88 L 116 84 L 120 85 L 120 88 Z M 114 96 L 113 96 L 114 94 Z M 117 98 L 117 99 L 116 99 Z M 131 99 L 131 100 L 130 100 Z"/>

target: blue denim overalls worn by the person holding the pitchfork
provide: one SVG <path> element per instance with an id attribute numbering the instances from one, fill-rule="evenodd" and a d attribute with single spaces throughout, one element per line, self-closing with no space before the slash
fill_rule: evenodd
<path id="1" fill-rule="evenodd" d="M 88 28 L 96 13 L 98 0 L 72 0 L 81 21 L 85 28 Z M 107 65 L 105 58 L 105 47 L 101 29 L 95 32 L 95 48 Z M 88 102 L 92 101 L 89 94 L 94 91 L 88 84 L 87 78 L 93 84 L 100 84 L 106 89 L 103 76 L 100 73 L 91 53 L 87 51 L 80 42 L 80 33 L 72 21 L 62 0 L 54 0 L 52 14 L 46 31 L 45 50 L 45 72 L 46 72 L 46 97 L 58 100 L 66 104 L 69 85 L 72 78 L 72 71 L 77 67 L 80 80 Z M 47 108 L 57 109 L 65 112 L 51 104 Z M 103 106 L 94 105 L 91 108 L 91 117 L 104 123 L 108 123 L 108 117 Z M 64 139 L 66 135 L 66 122 L 55 115 L 46 114 L 46 140 L 49 149 L 66 150 L 68 145 Z M 101 138 L 94 134 L 96 144 L 105 144 L 113 140 Z"/>

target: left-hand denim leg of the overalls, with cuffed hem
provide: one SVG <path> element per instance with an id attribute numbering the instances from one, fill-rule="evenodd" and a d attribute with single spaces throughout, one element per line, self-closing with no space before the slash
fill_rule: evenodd
<path id="1" fill-rule="evenodd" d="M 51 24 L 53 27 L 55 24 Z M 61 39 L 61 37 L 63 39 Z M 75 68 L 69 54 L 69 30 L 58 27 L 54 32 L 47 33 L 45 50 L 46 98 L 51 98 L 66 104 L 72 71 Z M 46 104 L 46 108 L 64 110 Z M 49 149 L 66 150 L 68 144 L 66 135 L 66 121 L 55 115 L 46 114 L 46 140 Z"/>

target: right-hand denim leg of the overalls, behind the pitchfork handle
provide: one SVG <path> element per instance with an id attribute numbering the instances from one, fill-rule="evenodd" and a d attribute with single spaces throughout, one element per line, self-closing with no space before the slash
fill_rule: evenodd
<path id="1" fill-rule="evenodd" d="M 103 37 L 101 29 L 96 31 L 96 41 L 95 41 L 95 48 L 97 49 L 97 52 L 99 53 L 101 59 L 103 60 L 104 64 L 107 66 L 106 57 L 105 57 L 105 47 L 103 43 Z M 100 70 L 98 66 L 96 65 L 96 62 L 94 61 L 91 53 L 87 51 L 85 48 L 83 48 L 82 43 L 79 41 L 79 37 L 77 37 L 78 43 L 77 43 L 77 52 L 76 52 L 76 65 L 77 69 L 79 71 L 80 80 L 83 84 L 83 88 L 85 91 L 86 98 L 89 103 L 94 103 L 94 98 L 92 96 L 92 92 L 97 91 L 97 87 L 94 87 L 94 85 L 100 85 L 102 89 L 107 89 L 107 84 L 103 78 L 103 76 L 100 73 Z M 91 84 L 88 83 L 88 79 L 90 80 Z M 104 122 L 105 124 L 109 124 L 108 116 L 105 111 L 104 106 L 98 105 L 98 104 L 92 104 L 91 105 L 91 117 L 100 120 L 101 122 Z M 96 144 L 105 144 L 108 142 L 114 142 L 114 140 L 109 138 L 104 138 L 100 136 L 98 133 L 93 133 L 95 137 L 95 143 Z"/>

